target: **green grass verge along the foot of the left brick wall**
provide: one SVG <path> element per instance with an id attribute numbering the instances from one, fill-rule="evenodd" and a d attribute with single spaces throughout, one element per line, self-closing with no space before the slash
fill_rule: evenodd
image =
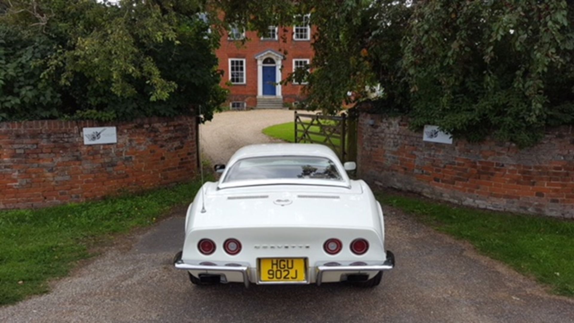
<path id="1" fill-rule="evenodd" d="M 153 224 L 172 206 L 191 202 L 199 187 L 193 182 L 97 202 L 0 212 L 0 305 L 45 293 L 47 281 L 92 256 L 88 249 L 95 243 Z"/>

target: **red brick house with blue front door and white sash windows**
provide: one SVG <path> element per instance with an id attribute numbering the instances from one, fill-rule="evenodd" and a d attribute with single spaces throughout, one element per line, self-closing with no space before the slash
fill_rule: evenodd
<path id="1" fill-rule="evenodd" d="M 238 29 L 224 34 L 216 55 L 224 71 L 221 85 L 230 89 L 231 109 L 280 109 L 284 102 L 300 101 L 304 83 L 279 82 L 294 68 L 308 68 L 313 59 L 312 32 L 305 16 L 300 25 L 269 27 L 263 37 Z"/>

